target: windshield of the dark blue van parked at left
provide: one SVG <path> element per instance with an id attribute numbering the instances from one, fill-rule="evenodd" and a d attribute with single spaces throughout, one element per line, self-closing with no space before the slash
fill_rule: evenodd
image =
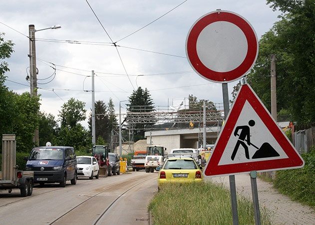
<path id="1" fill-rule="evenodd" d="M 29 157 L 29 160 L 62 160 L 62 149 L 58 148 L 43 148 L 34 149 Z"/>

